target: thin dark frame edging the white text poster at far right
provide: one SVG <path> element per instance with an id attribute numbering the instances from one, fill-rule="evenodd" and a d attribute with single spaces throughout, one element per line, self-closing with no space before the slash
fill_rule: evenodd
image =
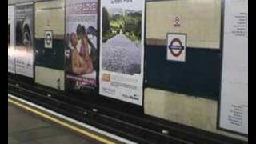
<path id="1" fill-rule="evenodd" d="M 220 55 L 221 55 L 221 78 L 220 78 L 220 89 L 219 89 L 219 94 L 218 94 L 218 110 L 217 110 L 217 125 L 216 125 L 216 129 L 217 130 L 222 130 L 231 134 L 238 134 L 241 135 L 243 137 L 248 138 L 248 134 L 243 134 L 241 132 L 235 131 L 235 130 L 229 130 L 226 128 L 223 128 L 220 126 L 220 118 L 221 118 L 221 102 L 222 102 L 222 71 L 223 71 L 223 49 L 224 49 L 224 24 L 225 24 L 225 2 L 226 0 L 222 0 L 222 4 L 221 4 L 221 40 L 220 40 Z"/>

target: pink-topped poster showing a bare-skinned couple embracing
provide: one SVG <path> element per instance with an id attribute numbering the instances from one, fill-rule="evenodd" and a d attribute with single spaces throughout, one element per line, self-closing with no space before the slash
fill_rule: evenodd
<path id="1" fill-rule="evenodd" d="M 66 0 L 66 88 L 94 89 L 98 65 L 98 0 Z"/>

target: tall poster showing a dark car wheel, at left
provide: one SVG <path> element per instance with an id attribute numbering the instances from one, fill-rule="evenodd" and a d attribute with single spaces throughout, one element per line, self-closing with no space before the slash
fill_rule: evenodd
<path id="1" fill-rule="evenodd" d="M 34 5 L 16 5 L 15 69 L 16 74 L 34 77 Z"/>

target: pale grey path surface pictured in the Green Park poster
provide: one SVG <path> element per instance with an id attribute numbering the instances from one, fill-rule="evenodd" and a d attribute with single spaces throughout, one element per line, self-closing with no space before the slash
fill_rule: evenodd
<path id="1" fill-rule="evenodd" d="M 125 34 L 117 34 L 102 44 L 102 68 L 122 74 L 140 74 L 142 49 Z"/>

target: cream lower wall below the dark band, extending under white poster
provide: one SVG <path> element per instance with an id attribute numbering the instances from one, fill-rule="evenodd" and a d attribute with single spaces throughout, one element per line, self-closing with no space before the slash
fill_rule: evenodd
<path id="1" fill-rule="evenodd" d="M 147 88 L 144 110 L 146 114 L 171 122 L 248 141 L 246 137 L 217 130 L 218 102 L 215 100 Z"/>

